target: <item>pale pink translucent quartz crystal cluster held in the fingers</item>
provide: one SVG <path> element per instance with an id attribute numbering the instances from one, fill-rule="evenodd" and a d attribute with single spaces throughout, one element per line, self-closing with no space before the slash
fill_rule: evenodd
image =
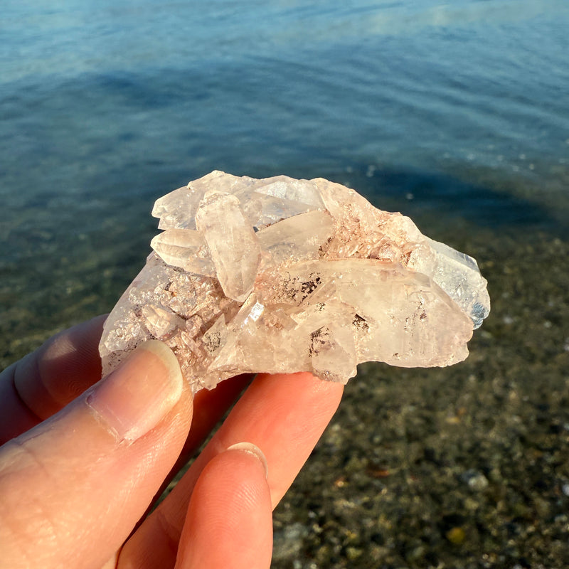
<path id="1" fill-rule="evenodd" d="M 213 171 L 152 215 L 164 231 L 105 322 L 104 374 L 159 339 L 194 391 L 257 372 L 346 383 L 363 361 L 462 361 L 489 313 L 472 257 L 324 179 Z"/>

